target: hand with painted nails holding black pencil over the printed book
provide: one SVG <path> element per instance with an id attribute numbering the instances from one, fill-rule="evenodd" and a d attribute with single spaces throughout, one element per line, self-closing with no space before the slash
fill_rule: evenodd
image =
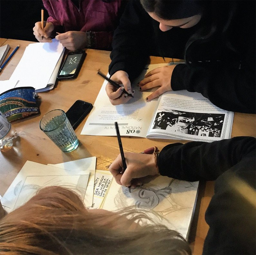
<path id="1" fill-rule="evenodd" d="M 131 82 L 128 78 L 128 74 L 125 71 L 117 71 L 111 76 L 111 80 L 116 82 L 117 84 L 123 84 L 124 87 L 117 89 L 112 84 L 108 83 L 106 85 L 106 92 L 109 97 L 109 101 L 113 105 L 119 105 L 127 103 L 132 97 L 128 96 L 127 94 L 123 93 L 125 89 L 129 94 L 134 94 L 131 88 Z"/>

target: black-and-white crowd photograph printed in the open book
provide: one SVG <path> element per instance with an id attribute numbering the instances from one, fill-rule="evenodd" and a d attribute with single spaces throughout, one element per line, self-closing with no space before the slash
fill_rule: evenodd
<path id="1" fill-rule="evenodd" d="M 183 133 L 194 136 L 220 137 L 225 114 L 198 113 L 178 110 L 159 111 L 152 129 L 167 133 Z"/>

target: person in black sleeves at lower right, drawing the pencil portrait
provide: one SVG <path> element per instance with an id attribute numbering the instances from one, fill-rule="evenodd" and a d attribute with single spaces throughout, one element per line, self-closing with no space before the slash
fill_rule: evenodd
<path id="1" fill-rule="evenodd" d="M 205 213 L 209 231 L 203 254 L 256 254 L 254 137 L 174 143 L 156 155 L 125 153 L 127 168 L 121 174 L 119 154 L 109 171 L 117 183 L 131 188 L 148 175 L 186 181 L 215 180 L 214 195 Z"/>

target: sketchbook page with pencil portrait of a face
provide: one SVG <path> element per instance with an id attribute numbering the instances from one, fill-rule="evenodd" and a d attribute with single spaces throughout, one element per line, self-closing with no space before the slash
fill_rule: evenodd
<path id="1" fill-rule="evenodd" d="M 166 225 L 187 240 L 197 199 L 198 181 L 188 182 L 166 176 L 148 178 L 131 193 L 125 186 L 111 181 L 102 209 L 115 211 L 131 206 L 144 212 L 154 223 Z M 143 220 L 140 224 L 147 224 Z"/>

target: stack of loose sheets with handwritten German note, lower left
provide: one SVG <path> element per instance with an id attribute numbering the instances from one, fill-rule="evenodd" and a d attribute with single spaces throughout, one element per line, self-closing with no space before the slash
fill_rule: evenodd
<path id="1" fill-rule="evenodd" d="M 27 161 L 1 199 L 2 205 L 9 213 L 32 198 L 38 189 L 62 186 L 75 191 L 85 206 L 99 208 L 112 175 L 108 171 L 97 170 L 95 177 L 95 166 L 96 157 L 55 165 Z"/>

